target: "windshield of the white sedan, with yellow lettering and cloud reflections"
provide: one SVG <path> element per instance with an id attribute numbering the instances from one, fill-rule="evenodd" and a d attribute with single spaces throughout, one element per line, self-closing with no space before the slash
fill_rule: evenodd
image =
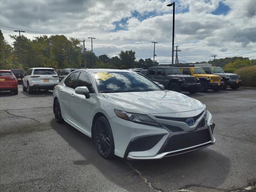
<path id="1" fill-rule="evenodd" d="M 94 72 L 100 93 L 160 91 L 156 84 L 134 72 Z"/>

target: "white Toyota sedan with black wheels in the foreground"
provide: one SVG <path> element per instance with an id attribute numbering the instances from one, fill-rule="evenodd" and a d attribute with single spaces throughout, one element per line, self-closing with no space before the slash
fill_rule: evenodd
<path id="1" fill-rule="evenodd" d="M 76 70 L 53 101 L 55 120 L 91 137 L 104 158 L 160 159 L 215 143 L 204 104 L 129 70 Z"/>

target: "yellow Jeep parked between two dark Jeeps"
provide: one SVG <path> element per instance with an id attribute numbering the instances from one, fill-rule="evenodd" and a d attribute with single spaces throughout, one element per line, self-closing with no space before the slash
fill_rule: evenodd
<path id="1" fill-rule="evenodd" d="M 199 79 L 200 92 L 207 92 L 208 88 L 214 91 L 219 91 L 222 88 L 222 78 L 218 75 L 206 74 L 201 67 L 180 67 L 180 70 L 183 74 L 192 75 Z"/>

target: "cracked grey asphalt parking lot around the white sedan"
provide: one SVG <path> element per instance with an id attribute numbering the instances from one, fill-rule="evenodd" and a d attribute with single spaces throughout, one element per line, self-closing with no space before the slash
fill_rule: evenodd
<path id="1" fill-rule="evenodd" d="M 100 157 L 57 124 L 52 92 L 0 93 L 0 191 L 242 192 L 256 188 L 256 90 L 188 94 L 206 104 L 216 144 L 161 160 Z"/>

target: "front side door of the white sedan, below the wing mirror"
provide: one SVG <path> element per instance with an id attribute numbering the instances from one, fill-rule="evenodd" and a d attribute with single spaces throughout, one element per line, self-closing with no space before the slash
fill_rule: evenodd
<path id="1" fill-rule="evenodd" d="M 90 77 L 86 72 L 80 72 L 78 76 L 76 87 L 81 86 L 86 86 L 89 90 L 89 94 L 95 93 Z M 90 118 L 91 108 L 95 104 L 96 102 L 93 96 L 86 99 L 84 95 L 76 94 L 75 92 L 73 97 L 70 99 L 69 106 L 72 122 L 80 126 L 89 134 L 91 133 L 90 123 L 92 121 Z"/>

